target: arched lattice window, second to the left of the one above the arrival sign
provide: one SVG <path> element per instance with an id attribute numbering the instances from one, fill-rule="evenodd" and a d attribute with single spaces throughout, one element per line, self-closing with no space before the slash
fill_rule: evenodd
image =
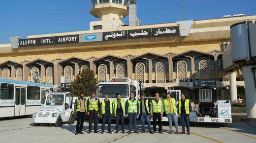
<path id="1" fill-rule="evenodd" d="M 156 64 L 156 83 L 165 83 L 165 64 L 163 62 L 158 62 Z"/>

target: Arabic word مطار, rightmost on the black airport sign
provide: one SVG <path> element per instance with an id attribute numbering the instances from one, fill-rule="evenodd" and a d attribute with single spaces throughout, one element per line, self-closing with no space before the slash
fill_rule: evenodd
<path id="1" fill-rule="evenodd" d="M 152 28 L 152 37 L 177 35 L 179 35 L 179 26 Z"/>

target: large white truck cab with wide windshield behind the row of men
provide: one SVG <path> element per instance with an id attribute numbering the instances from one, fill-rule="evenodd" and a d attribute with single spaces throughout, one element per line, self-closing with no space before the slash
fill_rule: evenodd
<path id="1" fill-rule="evenodd" d="M 116 94 L 120 93 L 121 97 L 127 100 L 130 93 L 134 94 L 136 99 L 140 97 L 140 84 L 137 80 L 128 77 L 112 77 L 109 82 L 101 81 L 97 84 L 96 97 L 100 102 L 104 99 L 104 95 L 108 94 L 110 100 L 116 98 Z"/>

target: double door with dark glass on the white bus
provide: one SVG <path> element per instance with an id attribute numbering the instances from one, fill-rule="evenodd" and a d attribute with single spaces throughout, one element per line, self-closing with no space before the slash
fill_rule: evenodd
<path id="1" fill-rule="evenodd" d="M 15 87 L 15 116 L 25 115 L 26 88 Z"/>

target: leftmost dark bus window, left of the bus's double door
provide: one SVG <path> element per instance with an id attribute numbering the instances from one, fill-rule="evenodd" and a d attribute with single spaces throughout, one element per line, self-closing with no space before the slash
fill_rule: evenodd
<path id="1" fill-rule="evenodd" d="M 0 99 L 13 99 L 14 86 L 13 84 L 1 83 Z"/>

